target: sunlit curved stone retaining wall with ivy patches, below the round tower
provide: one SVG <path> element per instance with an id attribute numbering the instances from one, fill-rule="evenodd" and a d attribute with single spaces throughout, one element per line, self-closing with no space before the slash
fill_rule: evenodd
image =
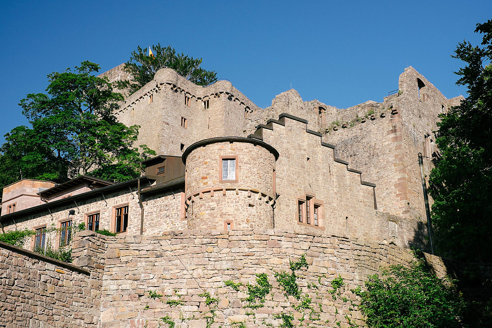
<path id="1" fill-rule="evenodd" d="M 99 235 L 76 238 L 74 252 L 79 254 L 90 249 Z M 305 310 L 310 326 L 346 323 L 345 314 L 362 324 L 360 314 L 349 309 L 354 299 L 349 290 L 363 285 L 381 266 L 408 265 L 412 258 L 407 250 L 392 244 L 277 229 L 185 230 L 159 237 L 112 237 L 104 242 L 100 247 L 105 249 L 101 328 L 155 328 L 162 324 L 159 318 L 166 316 L 179 327 L 206 327 L 212 317 L 212 327 L 244 322 L 248 328 L 266 328 L 281 325 L 277 317 L 281 313 L 293 315 L 297 326 L 303 317 L 303 311 L 296 309 L 299 301 L 284 295 L 274 272 L 290 273 L 289 261 L 296 262 L 302 255 L 308 268 L 301 268 L 296 275 L 302 297 L 311 298 L 312 315 Z M 440 259 L 427 257 L 442 276 L 445 267 Z M 92 265 L 82 268 L 91 269 Z M 244 285 L 255 285 L 260 273 L 267 275 L 273 289 L 264 306 L 249 308 Z M 344 286 L 334 299 L 331 282 L 338 276 Z M 225 285 L 228 280 L 238 284 L 237 291 Z M 216 298 L 216 303 L 207 304 L 206 293 Z"/>

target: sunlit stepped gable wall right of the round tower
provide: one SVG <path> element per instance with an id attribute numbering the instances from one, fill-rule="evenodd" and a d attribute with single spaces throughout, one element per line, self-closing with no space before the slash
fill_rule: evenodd
<path id="1" fill-rule="evenodd" d="M 388 216 L 373 219 L 379 202 L 374 199 L 377 185 L 361 180 L 360 171 L 335 158 L 334 146 L 323 143 L 321 133 L 307 129 L 307 120 L 281 114 L 278 120 L 270 119 L 259 126 L 250 137 L 265 141 L 280 154 L 276 164 L 275 228 L 368 240 L 395 239 L 401 244 L 401 234 L 413 235 L 413 230 L 405 229 L 390 234 Z M 310 224 L 305 220 L 307 197 L 321 206 L 318 226 L 313 222 L 312 208 Z"/>

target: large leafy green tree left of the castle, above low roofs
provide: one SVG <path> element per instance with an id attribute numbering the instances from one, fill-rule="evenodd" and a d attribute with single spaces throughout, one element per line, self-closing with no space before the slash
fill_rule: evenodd
<path id="1" fill-rule="evenodd" d="M 0 169 L 12 178 L 62 181 L 87 174 L 118 181 L 136 178 L 138 162 L 155 154 L 145 145 L 133 147 L 139 126 L 125 126 L 113 115 L 123 95 L 107 78 L 92 73 L 99 65 L 89 61 L 48 75 L 45 93 L 28 94 L 20 106 L 32 128 L 19 126 L 5 135 Z M 1 171 L 0 170 L 0 171 Z M 1 178 L 1 175 L 0 175 Z M 12 181 L 13 182 L 13 181 Z"/>

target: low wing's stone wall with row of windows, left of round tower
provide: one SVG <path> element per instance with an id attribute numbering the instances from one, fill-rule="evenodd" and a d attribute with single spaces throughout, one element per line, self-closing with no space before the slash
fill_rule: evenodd
<path id="1" fill-rule="evenodd" d="M 130 190 L 132 193 L 130 194 Z M 144 205 L 144 231 L 146 235 L 160 235 L 164 231 L 183 230 L 187 228 L 186 221 L 181 217 L 181 193 L 182 187 L 175 190 L 168 190 L 156 195 L 145 195 L 142 197 Z M 72 221 L 72 226 L 81 223 L 87 225 L 87 215 L 99 212 L 99 230 L 115 231 L 114 219 L 115 208 L 128 205 L 128 228 L 123 234 L 137 235 L 140 233 L 141 209 L 138 196 L 134 186 L 127 186 L 127 189 L 119 191 L 95 194 L 92 198 L 77 200 L 75 202 L 65 202 L 60 205 L 53 205 L 39 212 L 26 214 L 21 218 L 16 218 L 11 222 L 4 222 L 5 231 L 10 230 L 34 230 L 40 227 L 60 228 L 60 224 L 65 221 Z M 74 214 L 70 214 L 74 210 Z M 58 248 L 60 244 L 60 232 L 54 231 L 46 236 L 46 243 L 52 248 Z M 26 249 L 34 248 L 34 237 L 26 241 Z"/>

